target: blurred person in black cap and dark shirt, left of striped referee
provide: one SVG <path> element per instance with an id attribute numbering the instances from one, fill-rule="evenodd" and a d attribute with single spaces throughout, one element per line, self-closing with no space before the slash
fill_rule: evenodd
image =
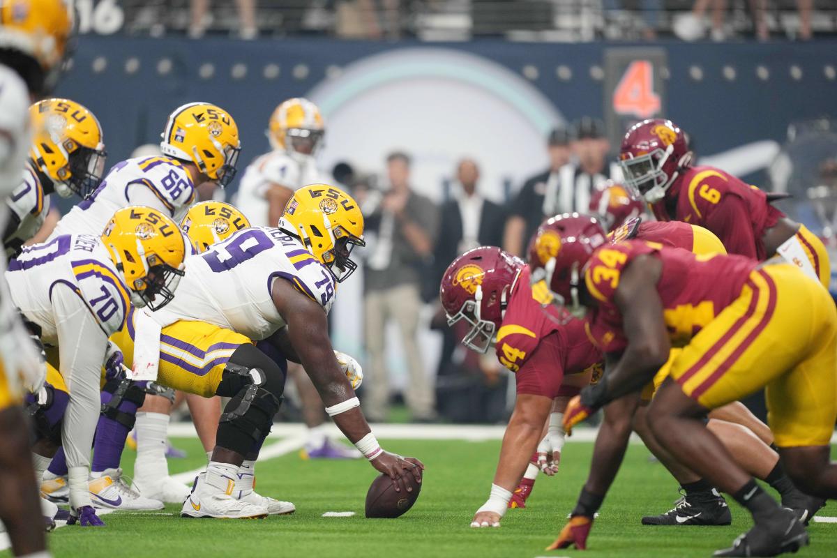
<path id="1" fill-rule="evenodd" d="M 557 180 L 558 171 L 570 161 L 571 134 L 566 128 L 556 128 L 549 134 L 547 154 L 549 168 L 523 183 L 521 191 L 511 202 L 511 215 L 506 221 L 502 248 L 506 252 L 521 255 L 526 248 L 524 243 L 543 221 L 543 194 L 547 182 Z"/>

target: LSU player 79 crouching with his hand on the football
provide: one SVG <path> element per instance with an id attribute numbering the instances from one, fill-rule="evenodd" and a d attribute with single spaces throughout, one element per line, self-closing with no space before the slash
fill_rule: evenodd
<path id="1" fill-rule="evenodd" d="M 193 222 L 190 236 L 199 230 Z M 142 368 L 135 346 L 143 342 L 142 330 L 156 324 L 162 328 L 157 381 L 203 397 L 232 397 L 207 471 L 183 504 L 183 516 L 250 518 L 294 510 L 293 504 L 253 491 L 254 462 L 285 387 L 284 359 L 253 345 L 269 338 L 286 341 L 282 355 L 298 357 L 326 412 L 377 470 L 396 481 L 404 469 L 421 478 L 417 459 L 378 446 L 331 349 L 326 312 L 336 284 L 357 267 L 350 255 L 364 244 L 362 234 L 363 217 L 351 197 L 324 184 L 301 188 L 279 228 L 244 228 L 188 257 L 177 304 L 147 316 L 135 312 L 129 327 L 114 336 L 126 359 L 133 356 L 132 366 Z M 403 480 L 396 487 L 411 489 Z"/>

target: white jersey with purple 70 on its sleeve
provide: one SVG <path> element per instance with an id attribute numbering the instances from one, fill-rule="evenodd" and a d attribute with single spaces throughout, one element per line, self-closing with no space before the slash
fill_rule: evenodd
<path id="1" fill-rule="evenodd" d="M 64 235 L 23 248 L 6 272 L 14 304 L 41 328 L 41 340 L 57 345 L 54 296 L 80 297 L 105 335 L 125 323 L 131 299 L 98 236 Z M 57 284 L 70 289 L 53 291 Z"/>

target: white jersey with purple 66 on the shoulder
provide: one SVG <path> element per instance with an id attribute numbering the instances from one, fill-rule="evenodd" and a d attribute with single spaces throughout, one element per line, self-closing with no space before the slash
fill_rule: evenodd
<path id="1" fill-rule="evenodd" d="M 115 212 L 131 205 L 157 209 L 180 223 L 195 192 L 192 177 L 176 159 L 127 159 L 113 166 L 95 192 L 61 218 L 49 239 L 62 234 L 98 236 Z"/>

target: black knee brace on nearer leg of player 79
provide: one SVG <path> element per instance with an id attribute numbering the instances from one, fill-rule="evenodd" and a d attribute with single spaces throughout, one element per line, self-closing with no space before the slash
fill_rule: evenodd
<path id="1" fill-rule="evenodd" d="M 218 422 L 218 446 L 244 455 L 270 433 L 282 396 L 265 389 L 268 385 L 263 370 L 228 363 L 217 393 L 234 395 Z"/>

